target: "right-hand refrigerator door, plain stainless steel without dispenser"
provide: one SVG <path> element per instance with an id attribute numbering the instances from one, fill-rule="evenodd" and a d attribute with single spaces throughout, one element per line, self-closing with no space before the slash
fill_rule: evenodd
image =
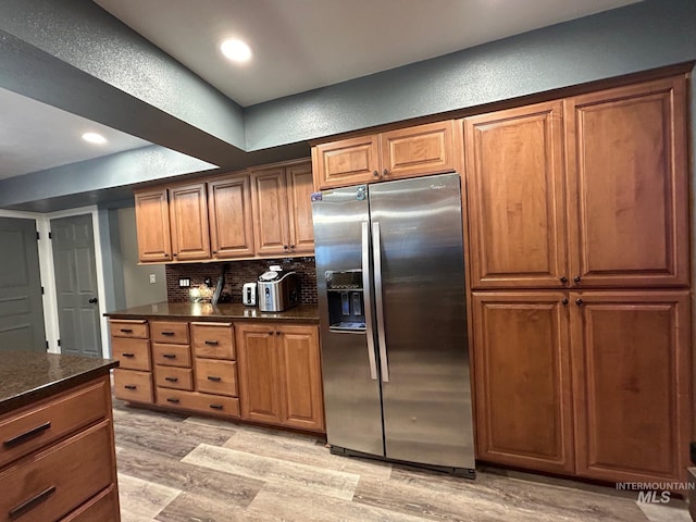
<path id="1" fill-rule="evenodd" d="M 385 452 L 474 469 L 458 174 L 370 186 Z"/>

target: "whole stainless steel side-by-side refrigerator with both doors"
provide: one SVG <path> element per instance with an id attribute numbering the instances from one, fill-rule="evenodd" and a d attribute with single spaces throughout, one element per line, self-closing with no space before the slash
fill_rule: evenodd
<path id="1" fill-rule="evenodd" d="M 459 175 L 312 196 L 336 453 L 474 476 Z"/>

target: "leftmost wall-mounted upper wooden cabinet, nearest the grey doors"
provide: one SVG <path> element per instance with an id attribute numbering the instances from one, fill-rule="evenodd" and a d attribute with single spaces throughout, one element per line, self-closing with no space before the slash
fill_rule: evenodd
<path id="1" fill-rule="evenodd" d="M 166 188 L 135 190 L 138 258 L 141 263 L 172 260 Z"/>

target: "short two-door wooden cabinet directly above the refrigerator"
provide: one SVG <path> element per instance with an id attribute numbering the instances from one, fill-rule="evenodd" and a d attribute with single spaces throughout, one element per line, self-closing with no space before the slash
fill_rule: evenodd
<path id="1" fill-rule="evenodd" d="M 312 164 L 320 189 L 453 171 L 452 121 L 321 144 Z"/>

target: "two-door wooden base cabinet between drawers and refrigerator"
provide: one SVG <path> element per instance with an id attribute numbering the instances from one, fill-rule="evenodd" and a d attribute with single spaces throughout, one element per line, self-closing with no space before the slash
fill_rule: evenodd
<path id="1" fill-rule="evenodd" d="M 236 336 L 243 418 L 322 431 L 316 326 L 239 323 Z"/>

